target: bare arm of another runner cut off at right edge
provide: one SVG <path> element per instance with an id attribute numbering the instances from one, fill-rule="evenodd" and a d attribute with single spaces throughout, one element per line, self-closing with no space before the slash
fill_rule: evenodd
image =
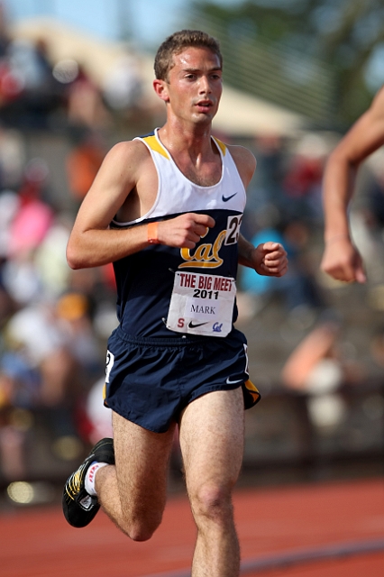
<path id="1" fill-rule="evenodd" d="M 325 252 L 321 263 L 334 279 L 365 282 L 361 254 L 353 245 L 348 205 L 361 164 L 384 144 L 384 87 L 330 155 L 324 178 Z"/>

